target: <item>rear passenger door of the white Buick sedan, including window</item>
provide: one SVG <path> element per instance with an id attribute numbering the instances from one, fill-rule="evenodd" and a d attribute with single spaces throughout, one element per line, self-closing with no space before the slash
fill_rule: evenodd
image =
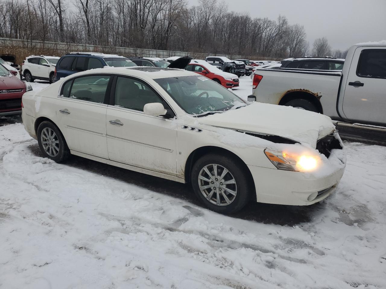
<path id="1" fill-rule="evenodd" d="M 70 150 L 108 159 L 105 99 L 110 79 L 107 74 L 90 74 L 64 82 L 55 109 Z"/>

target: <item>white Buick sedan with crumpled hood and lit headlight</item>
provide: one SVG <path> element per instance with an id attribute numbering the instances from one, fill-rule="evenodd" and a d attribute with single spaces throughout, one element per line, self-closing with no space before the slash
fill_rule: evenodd
<path id="1" fill-rule="evenodd" d="M 245 102 L 194 72 L 104 68 L 22 98 L 27 132 L 57 162 L 82 156 L 190 182 L 211 210 L 251 201 L 310 205 L 345 168 L 342 142 L 322 114 Z"/>

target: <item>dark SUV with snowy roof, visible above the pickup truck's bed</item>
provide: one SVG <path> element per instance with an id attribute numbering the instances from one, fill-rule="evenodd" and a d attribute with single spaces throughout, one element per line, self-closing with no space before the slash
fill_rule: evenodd
<path id="1" fill-rule="evenodd" d="M 317 70 L 342 70 L 344 59 L 333 57 L 296 57 L 281 60 L 282 68 L 301 68 Z"/>

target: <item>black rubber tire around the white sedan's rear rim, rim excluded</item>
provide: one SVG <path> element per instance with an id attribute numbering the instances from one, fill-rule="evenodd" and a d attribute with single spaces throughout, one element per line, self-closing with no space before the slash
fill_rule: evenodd
<path id="1" fill-rule="evenodd" d="M 59 145 L 59 150 L 56 155 L 54 154 L 49 155 L 49 153 L 47 153 L 47 151 L 44 150 L 44 147 L 42 144 L 42 138 L 44 139 L 44 136 L 42 137 L 42 131 L 44 129 L 48 129 L 48 131 L 49 129 L 51 129 L 55 133 L 56 138 L 53 138 L 53 141 L 58 141 L 58 143 L 56 144 Z M 55 124 L 51 123 L 51 121 L 43 121 L 41 124 L 39 124 L 39 127 L 37 128 L 37 142 L 39 143 L 39 148 L 42 154 L 46 158 L 50 158 L 51 160 L 54 160 L 57 163 L 66 161 L 70 156 L 70 150 L 68 149 L 68 146 L 67 146 L 66 140 L 64 139 L 63 134 Z"/>

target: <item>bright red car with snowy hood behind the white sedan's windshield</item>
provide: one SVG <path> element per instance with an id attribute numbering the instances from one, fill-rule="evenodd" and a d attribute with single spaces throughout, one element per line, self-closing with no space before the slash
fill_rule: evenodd
<path id="1" fill-rule="evenodd" d="M 206 76 L 226 88 L 239 86 L 239 77 L 237 75 L 224 72 L 204 60 L 191 60 L 185 69 Z"/>

